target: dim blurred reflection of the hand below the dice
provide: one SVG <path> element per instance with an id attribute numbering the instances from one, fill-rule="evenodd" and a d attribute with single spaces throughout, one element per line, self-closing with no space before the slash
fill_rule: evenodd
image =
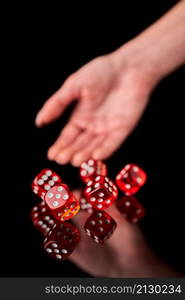
<path id="1" fill-rule="evenodd" d="M 79 192 L 75 192 L 79 197 Z M 70 260 L 95 277 L 175 277 L 179 274 L 160 261 L 144 240 L 138 225 L 128 223 L 114 205 L 106 210 L 117 222 L 113 235 L 103 245 L 88 237 L 83 225 L 89 214 L 81 211 L 73 221 L 81 241 Z"/>

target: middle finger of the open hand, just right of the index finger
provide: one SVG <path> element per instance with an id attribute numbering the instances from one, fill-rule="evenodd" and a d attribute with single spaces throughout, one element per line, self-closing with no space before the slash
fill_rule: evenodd
<path id="1" fill-rule="evenodd" d="M 78 135 L 77 139 L 65 148 L 60 148 L 55 160 L 59 164 L 70 162 L 76 152 L 83 149 L 93 138 L 92 134 L 85 131 Z"/>

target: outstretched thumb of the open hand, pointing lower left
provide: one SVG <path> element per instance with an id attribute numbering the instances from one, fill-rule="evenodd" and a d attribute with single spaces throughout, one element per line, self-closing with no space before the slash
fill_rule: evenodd
<path id="1" fill-rule="evenodd" d="M 38 112 L 35 124 L 42 127 L 58 118 L 65 108 L 79 95 L 79 87 L 75 81 L 75 76 L 70 76 L 63 86 L 49 98 L 41 110 Z"/>

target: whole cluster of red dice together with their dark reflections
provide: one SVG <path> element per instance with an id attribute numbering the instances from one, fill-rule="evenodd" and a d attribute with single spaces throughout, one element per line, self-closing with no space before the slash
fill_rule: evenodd
<path id="1" fill-rule="evenodd" d="M 144 216 L 144 207 L 133 194 L 144 185 L 146 173 L 135 164 L 129 164 L 116 176 L 117 186 L 107 173 L 101 161 L 83 162 L 80 177 L 85 188 L 80 200 L 52 170 L 44 169 L 35 177 L 32 190 L 42 201 L 32 209 L 31 219 L 45 236 L 44 249 L 52 258 L 66 259 L 80 241 L 80 232 L 70 220 L 80 209 L 90 214 L 84 229 L 95 242 L 103 244 L 112 235 L 116 222 L 104 210 L 117 200 L 117 186 L 125 194 L 116 201 L 124 218 L 135 223 Z"/>

